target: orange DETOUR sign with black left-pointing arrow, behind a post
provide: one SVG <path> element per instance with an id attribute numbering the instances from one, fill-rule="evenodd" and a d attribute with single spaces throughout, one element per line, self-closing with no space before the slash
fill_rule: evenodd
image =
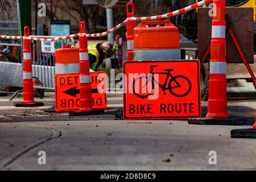
<path id="1" fill-rule="evenodd" d="M 90 73 L 93 109 L 107 109 L 105 78 L 105 72 Z M 55 75 L 55 110 L 57 112 L 80 109 L 79 82 L 79 73 Z"/>

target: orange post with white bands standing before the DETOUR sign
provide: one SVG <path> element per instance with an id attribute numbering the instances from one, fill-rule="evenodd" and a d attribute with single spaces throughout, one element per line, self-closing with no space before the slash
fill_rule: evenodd
<path id="1" fill-rule="evenodd" d="M 85 23 L 79 23 L 81 34 L 86 34 Z M 92 110 L 92 89 L 90 86 L 90 62 L 86 36 L 79 37 L 80 55 L 80 111 Z"/>

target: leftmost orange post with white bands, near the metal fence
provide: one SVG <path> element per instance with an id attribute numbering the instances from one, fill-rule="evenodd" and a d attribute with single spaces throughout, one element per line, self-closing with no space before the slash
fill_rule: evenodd
<path id="1" fill-rule="evenodd" d="M 24 27 L 24 36 L 30 36 L 30 27 Z M 30 41 L 28 39 L 23 40 L 23 104 L 35 103 Z"/>

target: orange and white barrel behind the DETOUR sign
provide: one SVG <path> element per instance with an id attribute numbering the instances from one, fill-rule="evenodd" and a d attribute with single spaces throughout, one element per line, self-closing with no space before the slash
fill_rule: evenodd
<path id="1" fill-rule="evenodd" d="M 55 51 L 55 73 L 79 73 L 79 48 L 61 48 Z"/>

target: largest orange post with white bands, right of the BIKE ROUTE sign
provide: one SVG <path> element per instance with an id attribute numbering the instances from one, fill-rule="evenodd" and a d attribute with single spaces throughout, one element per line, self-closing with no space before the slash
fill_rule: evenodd
<path id="1" fill-rule="evenodd" d="M 226 99 L 225 0 L 214 0 L 207 118 L 229 118 Z"/>

